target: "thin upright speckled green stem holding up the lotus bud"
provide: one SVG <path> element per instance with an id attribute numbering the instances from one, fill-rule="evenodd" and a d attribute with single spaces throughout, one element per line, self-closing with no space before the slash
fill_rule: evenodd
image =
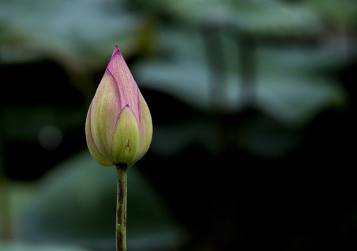
<path id="1" fill-rule="evenodd" d="M 126 251 L 126 164 L 117 164 L 117 251 Z"/>

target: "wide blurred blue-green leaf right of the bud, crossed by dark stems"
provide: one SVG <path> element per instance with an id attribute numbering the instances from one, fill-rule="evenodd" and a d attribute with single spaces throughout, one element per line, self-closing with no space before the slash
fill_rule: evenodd
<path id="1" fill-rule="evenodd" d="M 162 31 L 164 59 L 147 59 L 133 70 L 140 86 L 169 93 L 184 102 L 212 109 L 212 100 L 226 111 L 243 108 L 242 66 L 238 61 L 238 40 L 217 33 L 224 40 L 225 82 L 211 83 L 210 69 L 205 61 L 205 47 L 199 33 Z M 173 35 L 175 33 L 175 35 Z M 190 40 L 190 43 L 187 42 Z M 184 46 L 190 45 L 190 46 Z M 214 49 L 212 49 L 214 50 Z M 306 123 L 326 107 L 344 105 L 346 93 L 338 82 L 322 74 L 345 60 L 343 47 L 332 41 L 314 48 L 300 45 L 260 46 L 252 48 L 256 56 L 256 78 L 252 79 L 256 106 L 282 123 Z M 212 93 L 217 84 L 219 93 Z"/>

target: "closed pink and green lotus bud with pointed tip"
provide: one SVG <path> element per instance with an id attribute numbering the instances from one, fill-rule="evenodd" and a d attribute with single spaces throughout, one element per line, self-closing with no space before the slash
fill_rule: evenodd
<path id="1" fill-rule="evenodd" d="M 149 149 L 150 110 L 117 45 L 89 107 L 85 134 L 89 152 L 104 166 L 130 167 Z"/>

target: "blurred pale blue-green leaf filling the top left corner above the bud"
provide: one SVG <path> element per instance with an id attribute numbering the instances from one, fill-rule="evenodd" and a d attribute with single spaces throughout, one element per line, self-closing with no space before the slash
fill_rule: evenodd
<path id="1" fill-rule="evenodd" d="M 0 61 L 45 57 L 97 66 L 115 43 L 126 51 L 135 46 L 140 23 L 123 6 L 114 0 L 0 1 Z"/>

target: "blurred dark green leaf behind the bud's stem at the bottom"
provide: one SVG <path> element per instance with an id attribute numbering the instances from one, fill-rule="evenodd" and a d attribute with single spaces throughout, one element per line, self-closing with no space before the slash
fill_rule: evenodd
<path id="1" fill-rule="evenodd" d="M 113 250 L 116 182 L 115 167 L 99 166 L 87 151 L 64 162 L 38 184 L 18 222 L 20 238 Z M 136 167 L 129 169 L 127 219 L 131 250 L 162 250 L 180 241 L 168 208 Z"/>

